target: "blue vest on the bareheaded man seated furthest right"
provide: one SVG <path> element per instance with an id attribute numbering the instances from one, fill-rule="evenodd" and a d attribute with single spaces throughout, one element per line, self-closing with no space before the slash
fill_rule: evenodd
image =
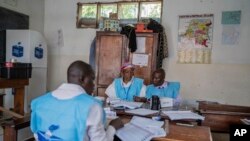
<path id="1" fill-rule="evenodd" d="M 180 82 L 167 83 L 167 86 L 162 89 L 155 87 L 153 84 L 148 85 L 146 90 L 146 98 L 150 99 L 153 95 L 157 95 L 158 97 L 177 98 L 180 91 Z"/>

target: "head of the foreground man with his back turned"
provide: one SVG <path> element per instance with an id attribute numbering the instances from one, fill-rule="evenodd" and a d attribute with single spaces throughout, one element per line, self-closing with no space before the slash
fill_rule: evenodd
<path id="1" fill-rule="evenodd" d="M 81 84 L 83 79 L 94 73 L 91 66 L 83 61 L 77 60 L 70 64 L 67 71 L 68 83 Z"/>

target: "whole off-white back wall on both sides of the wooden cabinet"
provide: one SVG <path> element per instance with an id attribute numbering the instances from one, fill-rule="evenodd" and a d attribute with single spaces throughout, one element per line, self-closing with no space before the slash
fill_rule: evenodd
<path id="1" fill-rule="evenodd" d="M 50 90 L 66 81 L 66 70 L 72 61 L 88 62 L 96 30 L 76 28 L 77 2 L 45 0 L 44 33 L 49 47 Z M 168 36 L 169 58 L 164 60 L 163 67 L 166 80 L 181 82 L 183 99 L 250 106 L 249 5 L 249 0 L 164 0 L 162 25 Z M 240 42 L 225 46 L 221 44 L 221 15 L 222 11 L 230 10 L 242 11 Z M 214 14 L 212 64 L 177 64 L 178 16 L 205 13 Z M 58 45 L 59 30 L 63 31 L 63 46 Z"/>

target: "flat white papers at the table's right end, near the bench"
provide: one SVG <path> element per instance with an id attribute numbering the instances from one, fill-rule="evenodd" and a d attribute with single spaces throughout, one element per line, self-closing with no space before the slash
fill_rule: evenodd
<path id="1" fill-rule="evenodd" d="M 205 117 L 193 113 L 191 111 L 162 111 L 163 114 L 167 115 L 171 120 L 181 120 L 181 119 L 195 119 L 204 120 Z"/>

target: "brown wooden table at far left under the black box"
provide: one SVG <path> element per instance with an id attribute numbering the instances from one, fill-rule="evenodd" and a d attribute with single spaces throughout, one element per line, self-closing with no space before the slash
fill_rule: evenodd
<path id="1" fill-rule="evenodd" d="M 0 89 L 14 88 L 14 112 L 24 115 L 25 86 L 29 85 L 29 79 L 2 79 Z"/>

